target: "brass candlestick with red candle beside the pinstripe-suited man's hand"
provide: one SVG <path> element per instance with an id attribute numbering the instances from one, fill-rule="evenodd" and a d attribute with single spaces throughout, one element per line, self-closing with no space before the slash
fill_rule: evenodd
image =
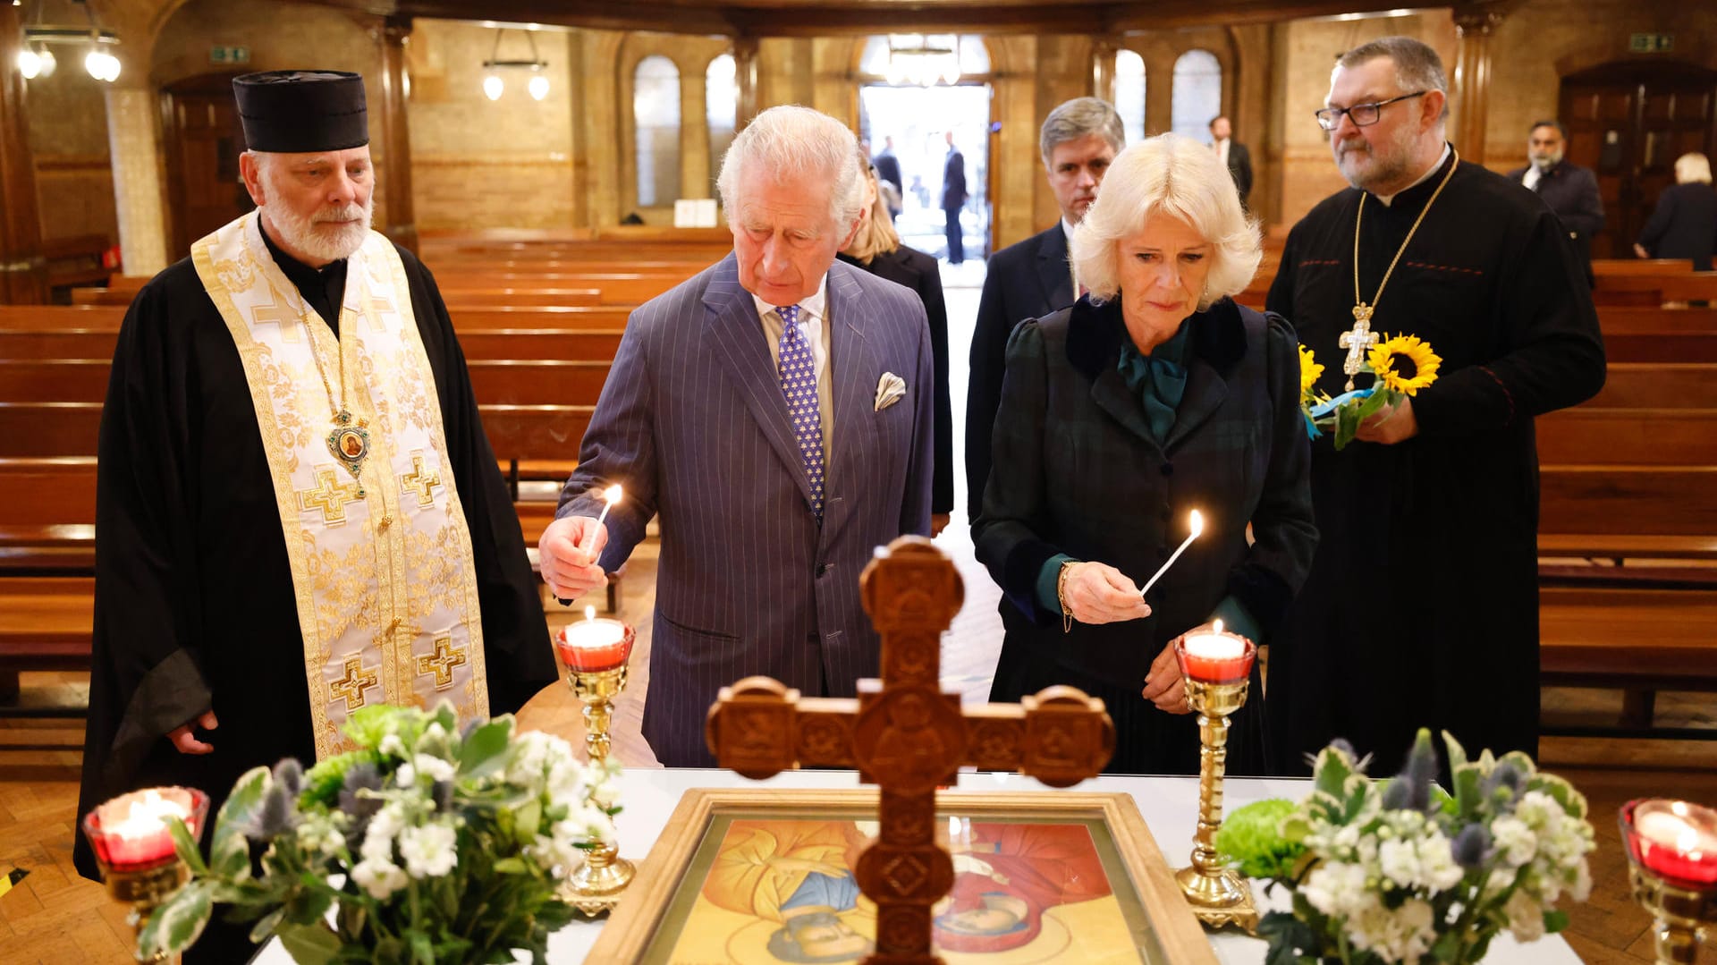
<path id="1" fill-rule="evenodd" d="M 587 618 L 582 625 L 596 623 L 618 622 Z M 572 627 L 580 627 L 580 623 Z M 608 752 L 613 747 L 608 728 L 613 725 L 615 697 L 627 687 L 627 661 L 632 659 L 634 630 L 625 623 L 620 627 L 623 628 L 620 642 L 604 647 L 568 644 L 565 630 L 558 640 L 561 658 L 567 663 L 567 685 L 572 687 L 572 695 L 584 704 L 584 750 L 596 762 L 608 761 Z M 615 656 L 618 656 L 618 665 L 613 665 Z M 620 903 L 627 884 L 632 884 L 635 872 L 632 862 L 620 857 L 618 845 L 598 841 L 585 848 L 584 864 L 572 872 L 561 888 L 561 900 L 585 915 L 611 912 Z"/>

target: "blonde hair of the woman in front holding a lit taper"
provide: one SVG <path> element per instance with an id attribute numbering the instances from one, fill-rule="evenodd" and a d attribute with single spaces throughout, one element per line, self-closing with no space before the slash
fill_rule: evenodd
<path id="1" fill-rule="evenodd" d="M 1157 213 L 1186 222 L 1216 247 L 1198 311 L 1247 288 L 1264 258 L 1264 242 L 1257 222 L 1248 222 L 1240 208 L 1235 180 L 1207 144 L 1159 134 L 1114 156 L 1097 199 L 1068 239 L 1073 270 L 1092 300 L 1119 294 L 1116 249 Z"/>

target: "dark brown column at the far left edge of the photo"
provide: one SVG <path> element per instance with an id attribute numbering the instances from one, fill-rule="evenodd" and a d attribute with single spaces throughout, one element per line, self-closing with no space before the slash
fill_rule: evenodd
<path id="1" fill-rule="evenodd" d="M 24 115 L 24 7 L 0 0 L 0 304 L 48 300 L 48 261 L 41 254 L 36 211 L 36 160 L 29 151 Z M 69 60 L 69 58 L 67 58 Z"/>

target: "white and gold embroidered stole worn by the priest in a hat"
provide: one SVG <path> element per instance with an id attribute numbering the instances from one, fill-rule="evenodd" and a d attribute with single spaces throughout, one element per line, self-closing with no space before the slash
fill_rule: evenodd
<path id="1" fill-rule="evenodd" d="M 400 256 L 371 232 L 347 263 L 340 338 L 287 280 L 256 211 L 191 249 L 251 386 L 304 632 L 316 757 L 366 704 L 489 713 L 470 532 Z M 342 460 L 335 412 L 367 433 Z M 350 433 L 347 433 L 350 434 Z M 235 640 L 235 646 L 242 642 Z"/>

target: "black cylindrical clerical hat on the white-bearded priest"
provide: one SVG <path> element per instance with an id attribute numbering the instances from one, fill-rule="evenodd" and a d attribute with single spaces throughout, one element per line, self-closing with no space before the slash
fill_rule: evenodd
<path id="1" fill-rule="evenodd" d="M 252 151 L 343 151 L 369 144 L 364 77 L 345 70 L 266 70 L 232 81 Z"/>

